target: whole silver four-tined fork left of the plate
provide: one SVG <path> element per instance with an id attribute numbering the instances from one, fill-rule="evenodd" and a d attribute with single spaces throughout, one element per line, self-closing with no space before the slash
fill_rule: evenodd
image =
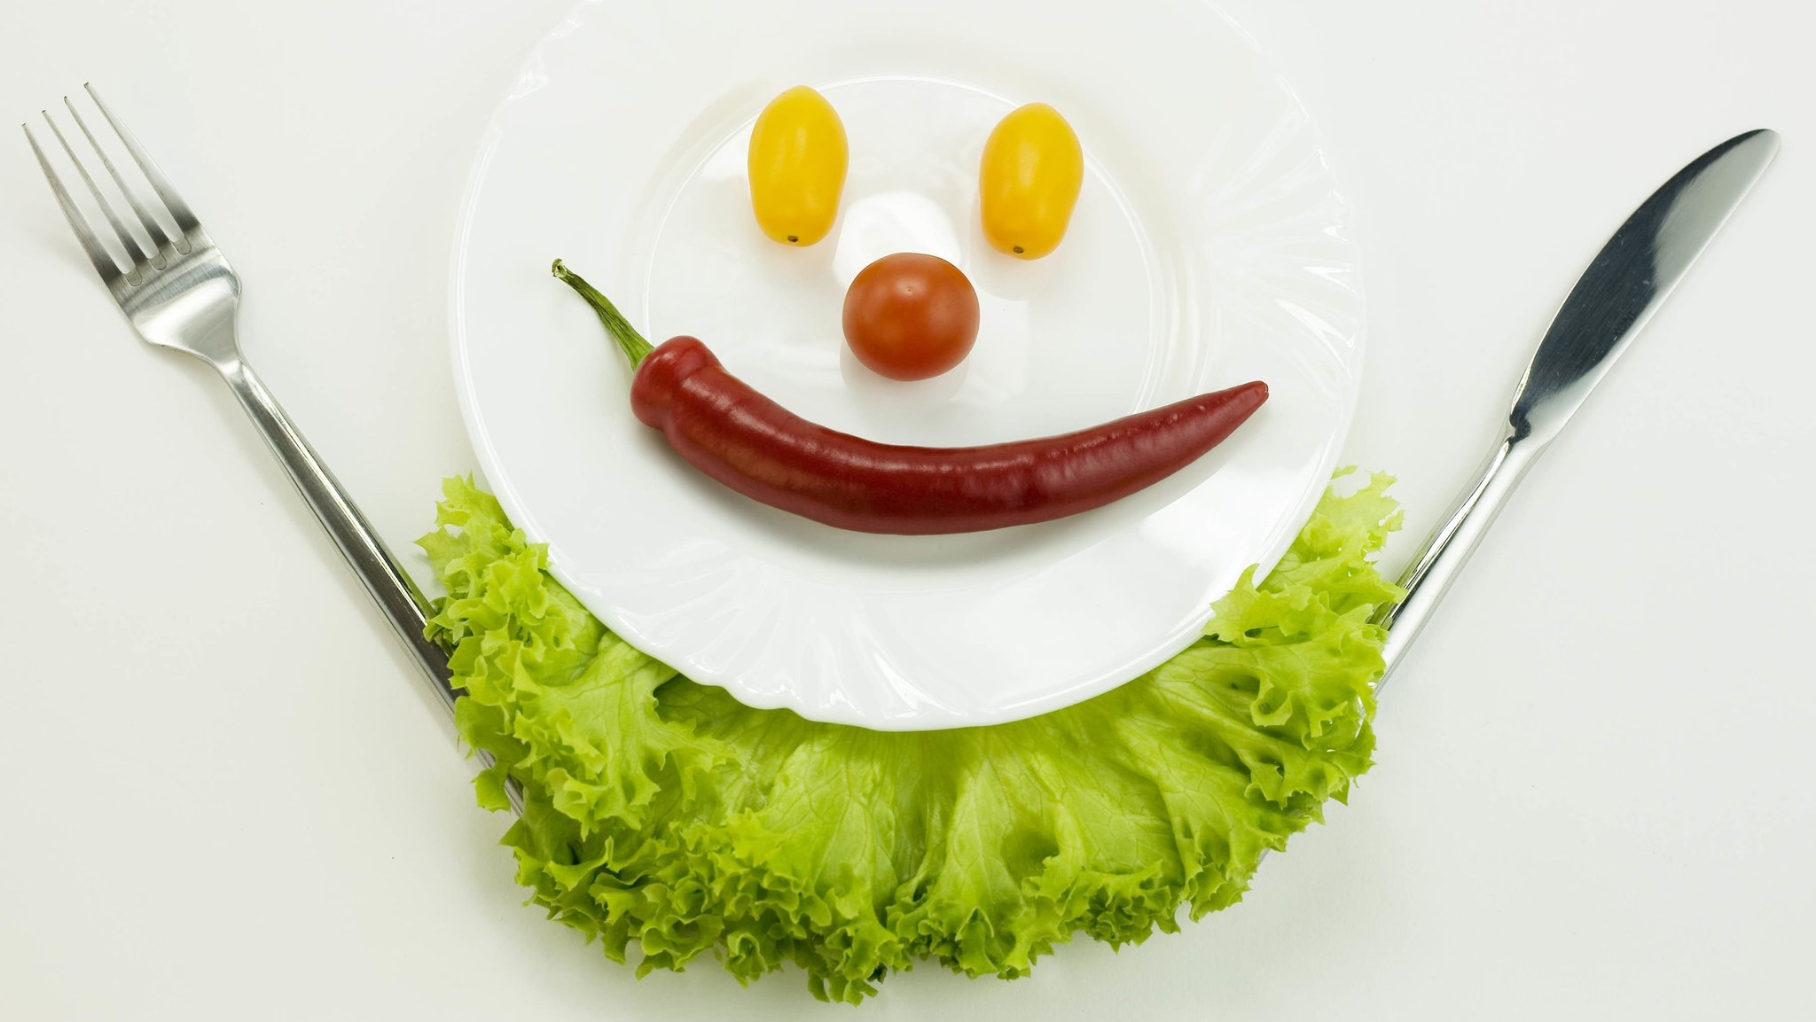
<path id="1" fill-rule="evenodd" d="M 87 140 L 87 151 L 93 160 L 85 162 L 76 154 L 76 149 L 56 125 L 56 120 L 51 118 L 49 111 L 44 111 L 44 120 L 51 134 L 56 136 L 58 145 L 62 145 L 64 154 L 69 156 L 76 174 L 87 185 L 89 194 L 94 196 L 94 205 L 107 221 L 105 231 L 96 229 L 91 218 L 71 198 L 51 160 L 38 147 L 38 138 L 33 134 L 31 125 L 22 127 L 25 129 L 31 151 L 38 156 L 38 165 L 44 169 L 45 180 L 51 183 L 51 191 L 56 194 L 58 205 L 64 207 L 69 227 L 76 232 L 76 240 L 82 241 L 89 261 L 94 263 L 94 272 L 100 274 L 102 283 L 107 285 L 107 292 L 113 294 L 120 310 L 125 312 L 127 321 L 138 330 L 140 339 L 153 347 L 198 358 L 220 374 L 234 398 L 240 399 L 240 407 L 251 416 L 252 425 L 258 427 L 260 436 L 265 437 L 271 452 L 278 456 L 283 470 L 289 472 L 291 481 L 296 483 L 298 492 L 309 503 L 309 510 L 316 512 L 316 519 L 327 528 L 329 537 L 340 546 L 340 552 L 347 557 L 354 574 L 360 575 L 360 581 L 365 583 L 367 592 L 383 610 L 398 637 L 403 639 L 412 659 L 421 666 L 429 686 L 452 712 L 454 701 L 465 695 L 465 692 L 452 684 L 447 653 L 425 637 L 430 614 L 429 601 L 403 568 L 398 566 L 396 557 L 385 548 L 372 525 L 360 514 L 360 506 L 352 503 L 352 497 L 347 496 L 347 490 L 334 479 L 334 474 L 321 463 L 321 457 L 309 447 L 309 441 L 303 439 L 303 434 L 291 418 L 283 414 L 278 399 L 271 396 L 271 390 L 265 388 L 265 383 L 252 372 L 252 367 L 240 352 L 236 329 L 240 276 L 234 274 L 227 263 L 227 256 L 222 254 L 214 240 L 202 229 L 189 203 L 176 194 L 176 189 L 163 178 L 158 165 L 151 162 L 151 156 L 133 138 L 133 133 L 107 109 L 107 103 L 102 102 L 93 85 L 85 84 L 84 89 L 94 100 L 94 109 L 100 111 L 107 127 L 113 129 L 120 145 L 138 163 L 153 198 L 163 205 L 169 223 L 174 225 L 174 231 L 165 227 L 165 221 L 147 203 L 147 196 L 127 183 L 125 176 L 120 174 L 120 169 L 107 156 L 107 151 L 102 149 L 89 123 L 82 118 L 82 113 L 69 102 L 69 96 L 64 96 L 64 105 Z M 96 162 L 113 178 L 120 189 L 120 196 L 131 207 L 125 220 L 114 209 L 116 203 L 94 182 L 91 167 Z M 129 223 L 138 227 L 138 234 L 131 231 Z M 123 261 L 109 251 L 109 241 L 116 243 L 123 252 Z M 476 750 L 476 753 L 485 766 L 492 764 L 492 757 L 485 750 Z M 521 813 L 521 791 L 514 784 L 508 784 L 507 790 L 512 806 Z"/>

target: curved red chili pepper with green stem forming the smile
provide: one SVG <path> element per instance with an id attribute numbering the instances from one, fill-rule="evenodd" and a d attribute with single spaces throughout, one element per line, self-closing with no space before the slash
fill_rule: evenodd
<path id="1" fill-rule="evenodd" d="M 719 365 L 697 338 L 652 349 L 556 260 L 630 358 L 630 407 L 681 457 L 755 501 L 855 532 L 981 532 L 1079 514 L 1179 472 L 1268 399 L 1255 381 L 1079 432 L 984 447 L 901 447 L 810 423 Z"/>

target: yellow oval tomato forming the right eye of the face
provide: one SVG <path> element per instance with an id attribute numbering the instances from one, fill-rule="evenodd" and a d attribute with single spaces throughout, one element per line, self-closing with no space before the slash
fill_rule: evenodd
<path id="1" fill-rule="evenodd" d="M 984 238 L 1019 260 L 1039 260 L 1059 247 L 1084 185 L 1079 136 L 1046 103 L 1010 111 L 977 172 Z"/>

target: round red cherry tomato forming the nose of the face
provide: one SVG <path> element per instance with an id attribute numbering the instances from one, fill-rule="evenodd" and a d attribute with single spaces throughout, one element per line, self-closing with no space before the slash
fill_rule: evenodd
<path id="1" fill-rule="evenodd" d="M 939 376 L 977 341 L 977 289 L 939 256 L 883 256 L 844 294 L 844 341 L 890 379 Z"/>

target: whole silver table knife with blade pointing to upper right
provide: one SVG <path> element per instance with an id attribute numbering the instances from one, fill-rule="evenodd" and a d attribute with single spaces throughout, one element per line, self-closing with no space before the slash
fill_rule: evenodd
<path id="1" fill-rule="evenodd" d="M 1382 608 L 1386 668 L 1377 692 L 1431 619 L 1469 554 L 1564 423 L 1663 305 L 1778 154 L 1776 131 L 1749 131 L 1703 152 L 1620 225 L 1551 319 L 1482 472 L 1400 577 L 1406 597 Z"/>

